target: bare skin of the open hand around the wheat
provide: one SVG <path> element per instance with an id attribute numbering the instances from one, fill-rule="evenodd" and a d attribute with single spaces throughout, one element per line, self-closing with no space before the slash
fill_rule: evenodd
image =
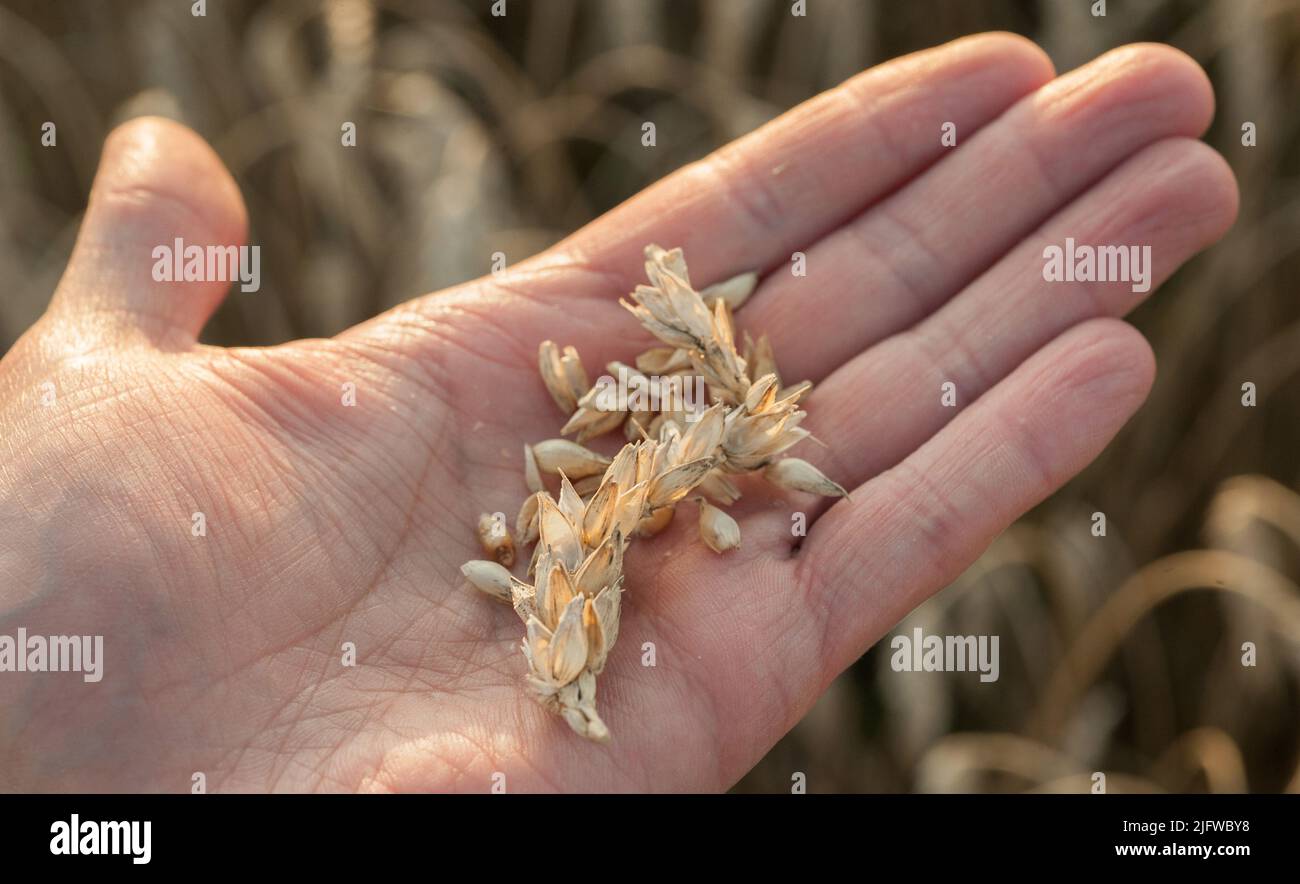
<path id="1" fill-rule="evenodd" d="M 1160 282 L 1212 244 L 1238 200 L 1195 140 L 1212 113 L 1167 47 L 1054 78 L 1020 38 L 967 38 L 495 277 L 269 348 L 198 344 L 226 286 L 151 278 L 159 243 L 243 242 L 230 176 L 177 124 L 124 125 L 48 312 L 0 361 L 0 634 L 103 634 L 105 671 L 0 675 L 0 788 L 731 786 L 1138 410 L 1154 361 L 1118 317 L 1147 295 L 1048 285 L 1043 247 L 1150 244 Z M 634 542 L 601 746 L 525 694 L 521 624 L 459 566 L 478 512 L 514 519 L 523 443 L 563 420 L 538 342 L 589 370 L 651 343 L 618 306 L 649 242 L 682 246 L 697 285 L 764 272 L 737 320 L 818 384 L 805 425 L 826 446 L 794 454 L 853 497 L 750 481 L 738 551 L 705 549 L 693 507 Z"/>

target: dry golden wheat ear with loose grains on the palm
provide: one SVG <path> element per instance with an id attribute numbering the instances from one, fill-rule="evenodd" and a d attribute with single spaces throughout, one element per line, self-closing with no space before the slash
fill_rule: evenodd
<path id="1" fill-rule="evenodd" d="M 495 560 L 462 567 L 471 585 L 514 606 L 524 621 L 526 680 L 538 701 L 577 733 L 602 742 L 610 732 L 595 711 L 595 676 L 619 636 L 623 556 L 632 538 L 663 530 L 676 504 L 698 491 L 701 540 L 715 552 L 738 547 L 740 526 L 714 506 L 740 498 L 729 478 L 737 473 L 760 472 L 777 486 L 827 497 L 846 494 L 812 464 L 777 459 L 809 436 L 797 403 L 812 385 L 781 386 L 767 335 L 757 342 L 746 335 L 745 354 L 736 350 L 732 311 L 754 290 L 757 274 L 696 291 L 681 250 L 658 246 L 646 247 L 645 266 L 650 285 L 637 286 L 633 303 L 623 304 L 666 346 L 637 356 L 634 368 L 606 368 L 636 373 L 668 395 L 650 399 L 658 407 L 602 407 L 599 386 L 589 382 L 577 351 L 543 341 L 542 381 L 568 417 L 562 436 L 576 441 L 524 446 L 530 494 L 516 520 L 517 537 L 503 538 L 500 525 L 485 516 L 478 536 Z M 681 396 L 671 395 L 668 381 L 697 376 L 712 404 L 689 411 Z M 632 441 L 612 459 L 581 445 L 619 428 Z M 559 477 L 558 497 L 546 490 L 545 474 Z M 514 560 L 516 542 L 533 541 L 528 584 L 503 566 Z"/>

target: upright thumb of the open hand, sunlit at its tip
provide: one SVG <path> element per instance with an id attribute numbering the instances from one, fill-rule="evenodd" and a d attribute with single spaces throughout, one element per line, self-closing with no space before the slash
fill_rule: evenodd
<path id="1" fill-rule="evenodd" d="M 239 278 L 229 272 L 231 256 L 239 266 L 235 250 L 209 247 L 239 247 L 246 229 L 239 188 L 207 142 L 159 117 L 122 124 L 104 142 L 49 318 L 92 337 L 190 346 Z M 187 274 L 192 246 L 218 257 L 194 263 Z"/>

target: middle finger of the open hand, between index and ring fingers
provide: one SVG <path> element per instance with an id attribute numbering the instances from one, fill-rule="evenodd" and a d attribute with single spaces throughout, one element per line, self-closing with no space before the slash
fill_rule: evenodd
<path id="1" fill-rule="evenodd" d="M 1022 99 L 812 244 L 807 276 L 775 270 L 738 322 L 768 330 L 786 382 L 818 381 L 936 311 L 1132 153 L 1200 135 L 1212 113 L 1209 82 L 1182 52 L 1150 44 L 1109 52 Z"/>

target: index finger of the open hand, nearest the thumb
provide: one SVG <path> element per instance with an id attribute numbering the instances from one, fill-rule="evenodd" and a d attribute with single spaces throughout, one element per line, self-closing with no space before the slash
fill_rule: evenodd
<path id="1" fill-rule="evenodd" d="M 933 164 L 946 124 L 965 139 L 1053 73 L 1014 34 L 902 56 L 684 166 L 555 251 L 612 278 L 611 298 L 640 282 L 651 242 L 681 246 L 697 285 L 774 266 Z"/>

